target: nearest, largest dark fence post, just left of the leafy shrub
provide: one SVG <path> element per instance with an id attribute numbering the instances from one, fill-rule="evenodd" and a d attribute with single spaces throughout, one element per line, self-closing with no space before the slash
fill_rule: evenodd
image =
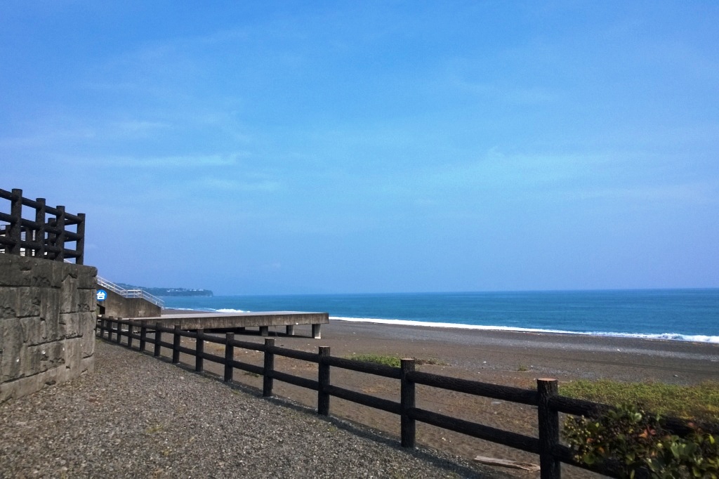
<path id="1" fill-rule="evenodd" d="M 559 412 L 549 406 L 549 400 L 559 394 L 557 384 L 556 379 L 537 380 L 541 479 L 562 477 L 562 463 L 553 454 L 554 448 L 559 444 Z"/>

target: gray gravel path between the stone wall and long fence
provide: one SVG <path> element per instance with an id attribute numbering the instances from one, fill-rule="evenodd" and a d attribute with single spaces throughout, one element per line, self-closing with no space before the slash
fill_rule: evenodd
<path id="1" fill-rule="evenodd" d="M 98 341 L 95 373 L 0 405 L 0 478 L 63 477 L 503 474 Z"/>

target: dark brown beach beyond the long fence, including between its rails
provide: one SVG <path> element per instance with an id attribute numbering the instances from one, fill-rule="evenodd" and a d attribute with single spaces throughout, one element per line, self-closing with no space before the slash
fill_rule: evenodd
<path id="1" fill-rule="evenodd" d="M 557 378 L 560 388 L 562 383 L 578 379 L 608 378 L 677 385 L 719 380 L 719 345 L 713 343 L 422 327 L 336 319 L 322 326 L 321 339 L 312 339 L 310 332 L 309 326 L 299 325 L 295 327 L 294 336 L 287 336 L 284 328 L 278 327 L 274 330 L 270 328 L 270 337 L 275 337 L 278 346 L 292 350 L 317 352 L 319 346 L 329 346 L 334 357 L 377 354 L 432 360 L 434 364 L 421 364 L 419 370 L 521 388 L 535 387 L 536 378 Z M 252 328 L 238 336 L 244 341 L 264 341 Z M 221 353 L 219 346 L 213 353 Z M 257 352 L 236 352 L 236 357 L 262 365 L 262 355 Z M 275 367 L 310 379 L 316 378 L 317 374 L 316 365 L 284 357 L 275 358 Z M 206 363 L 206 371 L 219 377 L 222 375 L 221 367 L 214 363 Z M 238 373 L 235 380 L 262 390 L 261 377 Z M 398 385 L 385 378 L 334 368 L 332 383 L 380 398 L 398 399 Z M 421 404 L 418 407 L 521 434 L 536 434 L 536 411 L 526 406 L 434 388 L 418 391 L 418 404 Z M 314 391 L 280 381 L 275 382 L 275 393 L 316 407 Z M 333 398 L 330 413 L 390 435 L 399 433 L 398 419 L 383 411 Z M 523 462 L 538 460 L 535 455 L 526 452 L 426 424 L 418 424 L 417 440 L 418 444 L 447 450 L 467 459 L 485 455 Z M 563 470 L 568 478 L 598 477 L 574 467 L 563 467 Z M 536 477 L 533 474 L 512 474 L 523 478 Z"/>

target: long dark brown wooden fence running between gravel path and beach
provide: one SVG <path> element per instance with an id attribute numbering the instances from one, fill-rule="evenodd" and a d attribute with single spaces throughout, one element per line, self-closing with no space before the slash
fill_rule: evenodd
<path id="1" fill-rule="evenodd" d="M 619 477 L 617 470 L 612 467 L 588 467 L 587 465 L 574 461 L 571 450 L 563 444 L 560 444 L 559 413 L 592 416 L 605 411 L 608 409 L 608 406 L 559 396 L 556 379 L 538 379 L 536 391 L 511 386 L 498 386 L 473 380 L 421 373 L 415 370 L 415 360 L 412 359 L 403 359 L 401 360 L 400 368 L 392 368 L 370 362 L 333 357 L 330 355 L 329 347 L 320 346 L 317 353 L 303 352 L 275 346 L 275 339 L 273 338 L 266 338 L 265 344 L 258 344 L 255 342 L 238 341 L 234 339 L 233 333 L 227 333 L 224 337 L 221 337 L 206 334 L 201 329 L 198 329 L 196 332 L 184 331 L 180 329 L 179 326 L 175 326 L 174 328 L 162 327 L 159 323 L 156 324 L 154 328 L 146 326 L 140 327 L 132 321 L 112 317 L 99 318 L 96 331 L 99 337 L 107 339 L 108 341 L 114 341 L 118 344 L 124 344 L 131 349 L 137 345 L 137 349 L 142 352 L 147 350 L 148 344 L 152 344 L 154 345 L 153 354 L 155 356 L 160 356 L 160 349 L 162 347 L 168 348 L 172 351 L 172 362 L 174 364 L 180 362 L 180 353 L 191 355 L 195 357 L 195 370 L 198 373 L 203 372 L 205 360 L 224 365 L 225 382 L 233 380 L 235 369 L 262 375 L 262 396 L 265 397 L 273 395 L 273 382 L 275 380 L 317 391 L 317 411 L 323 416 L 329 415 L 329 403 L 332 396 L 396 414 L 400 416 L 400 442 L 402 447 L 415 447 L 415 424 L 416 421 L 421 421 L 426 424 L 449 429 L 450 431 L 467 434 L 471 437 L 497 442 L 498 444 L 504 444 L 505 446 L 537 454 L 539 455 L 542 479 L 560 478 L 561 462 L 592 470 L 610 477 Z M 149 335 L 150 333 L 152 333 L 152 336 Z M 168 337 L 171 338 L 171 341 L 163 340 Z M 181 344 L 183 337 L 196 339 L 195 349 L 183 346 Z M 127 338 L 124 343 L 123 338 Z M 137 343 L 135 341 L 137 341 Z M 205 343 L 224 345 L 224 356 L 205 352 Z M 263 352 L 263 365 L 252 365 L 235 360 L 235 348 Z M 301 378 L 275 370 L 275 356 L 290 357 L 317 364 L 319 369 L 317 379 Z M 365 393 L 351 391 L 341 386 L 335 386 L 330 383 L 331 368 L 344 368 L 359 371 L 360 373 L 368 373 L 399 380 L 400 401 L 389 401 Z M 508 432 L 495 427 L 419 409 L 415 406 L 415 386 L 417 384 L 475 396 L 484 396 L 501 401 L 536 406 L 539 437 L 530 437 L 516 432 Z M 668 429 L 672 430 L 675 434 L 687 434 L 690 432 L 690 428 L 687 424 L 679 419 L 670 420 L 667 426 Z"/>

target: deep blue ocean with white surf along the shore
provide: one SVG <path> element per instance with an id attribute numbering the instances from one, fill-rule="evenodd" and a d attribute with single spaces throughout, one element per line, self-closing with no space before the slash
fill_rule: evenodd
<path id="1" fill-rule="evenodd" d="M 196 311 L 326 311 L 330 319 L 719 343 L 719 289 L 165 297 Z"/>

